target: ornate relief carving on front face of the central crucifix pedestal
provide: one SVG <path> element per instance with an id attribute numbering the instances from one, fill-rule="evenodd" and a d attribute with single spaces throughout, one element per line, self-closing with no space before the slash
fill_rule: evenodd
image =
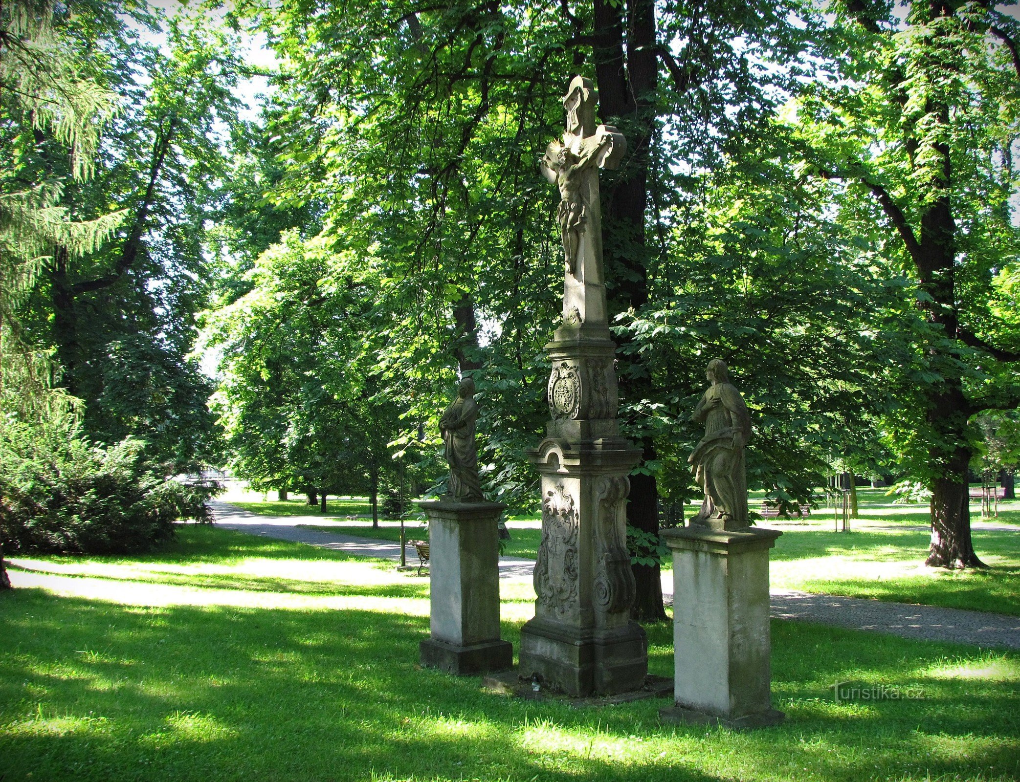
<path id="1" fill-rule="evenodd" d="M 534 563 L 534 593 L 564 614 L 577 597 L 577 507 L 557 483 L 542 500 L 542 543 Z"/>

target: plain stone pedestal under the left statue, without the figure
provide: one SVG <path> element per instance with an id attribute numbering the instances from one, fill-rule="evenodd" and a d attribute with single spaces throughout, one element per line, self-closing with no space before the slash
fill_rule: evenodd
<path id="1" fill-rule="evenodd" d="M 419 503 L 428 515 L 429 627 L 421 664 L 459 676 L 502 671 L 513 648 L 500 639 L 500 503 Z"/>

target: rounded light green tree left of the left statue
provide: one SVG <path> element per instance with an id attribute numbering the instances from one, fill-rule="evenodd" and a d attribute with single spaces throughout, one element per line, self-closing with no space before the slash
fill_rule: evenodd
<path id="1" fill-rule="evenodd" d="M 320 239 L 284 233 L 251 290 L 207 317 L 221 351 L 215 409 L 236 473 L 255 485 L 368 493 L 396 469 L 400 428 L 378 382 L 369 328 L 377 280 Z"/>

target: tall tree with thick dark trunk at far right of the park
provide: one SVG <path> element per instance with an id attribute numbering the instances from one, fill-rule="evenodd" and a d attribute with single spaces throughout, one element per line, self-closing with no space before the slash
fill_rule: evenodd
<path id="1" fill-rule="evenodd" d="M 802 105 L 808 159 L 846 184 L 840 222 L 911 281 L 912 351 L 890 373 L 888 419 L 931 488 L 929 565 L 981 564 L 971 541 L 971 417 L 1020 401 L 1020 330 L 997 317 L 993 280 L 1015 263 L 1020 25 L 980 2 L 837 5 L 838 68 Z"/>

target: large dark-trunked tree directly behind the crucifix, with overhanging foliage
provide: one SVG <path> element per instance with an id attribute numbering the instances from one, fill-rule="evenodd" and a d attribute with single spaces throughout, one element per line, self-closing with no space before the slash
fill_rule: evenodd
<path id="1" fill-rule="evenodd" d="M 735 128 L 767 115 L 763 85 L 777 71 L 749 57 L 798 51 L 792 8 L 669 4 L 658 19 L 648 0 L 357 8 L 285 3 L 263 14 L 291 105 L 273 128 L 291 140 L 292 164 L 274 197 L 280 206 L 318 199 L 326 233 L 381 263 L 381 293 L 401 325 L 381 358 L 388 378 L 414 387 L 405 395 L 414 418 L 430 415 L 452 368 L 484 365 L 479 389 L 499 422 L 488 453 L 512 487 L 506 499 L 533 507 L 522 452 L 545 417 L 547 367 L 537 357 L 562 284 L 555 195 L 537 160 L 561 131 L 564 86 L 578 70 L 595 75 L 602 120 L 628 137 L 628 159 L 604 187 L 604 246 L 616 311 L 644 308 L 649 258 L 670 250 L 664 230 L 646 249 L 649 195 L 661 215 L 660 177 L 692 164 L 685 145 L 697 165 L 717 161 Z M 628 517 L 654 536 L 655 441 L 644 421 L 662 392 L 625 327 L 618 336 L 625 418 L 646 456 Z M 663 617 L 657 567 L 635 572 L 636 613 Z"/>

